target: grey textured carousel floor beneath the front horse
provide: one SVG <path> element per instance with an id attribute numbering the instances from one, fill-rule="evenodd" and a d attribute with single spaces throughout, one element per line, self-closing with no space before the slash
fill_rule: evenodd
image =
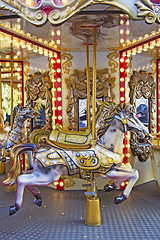
<path id="1" fill-rule="evenodd" d="M 5 175 L 0 176 L 0 180 Z M 56 191 L 39 188 L 42 207 L 33 203 L 28 190 L 22 208 L 8 216 L 15 192 L 6 192 L 0 185 L 0 240 L 157 240 L 160 239 L 160 191 L 155 182 L 133 189 L 128 200 L 114 205 L 119 191 L 99 191 L 103 224 L 89 227 L 85 219 L 86 202 L 83 191 Z"/>

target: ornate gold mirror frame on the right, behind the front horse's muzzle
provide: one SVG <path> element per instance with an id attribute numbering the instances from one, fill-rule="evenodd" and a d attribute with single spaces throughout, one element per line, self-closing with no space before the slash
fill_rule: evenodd
<path id="1" fill-rule="evenodd" d="M 135 106 L 135 99 L 140 99 L 144 97 L 148 99 L 148 109 L 149 109 L 149 131 L 153 133 L 155 131 L 155 117 L 154 113 L 156 111 L 155 102 L 155 89 L 156 83 L 153 78 L 152 73 L 147 73 L 144 70 L 139 72 L 133 71 L 129 82 L 130 87 L 130 103 Z M 149 139 L 144 142 L 140 142 L 135 133 L 131 134 L 130 141 L 131 150 L 133 155 L 138 156 L 139 161 L 145 162 L 152 153 L 152 144 Z"/>

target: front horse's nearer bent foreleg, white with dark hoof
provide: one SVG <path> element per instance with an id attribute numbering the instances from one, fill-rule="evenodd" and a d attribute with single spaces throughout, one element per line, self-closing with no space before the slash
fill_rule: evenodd
<path id="1" fill-rule="evenodd" d="M 120 184 L 124 182 L 126 179 L 129 179 L 128 184 L 124 189 L 122 195 L 115 197 L 114 203 L 119 204 L 129 197 L 129 194 L 133 186 L 135 185 L 139 178 L 139 173 L 137 170 L 131 168 L 128 169 L 128 167 L 125 167 L 124 165 L 121 167 L 114 168 L 113 170 L 107 173 L 107 176 L 111 179 L 116 180 L 115 182 L 116 187 L 120 186 Z"/>

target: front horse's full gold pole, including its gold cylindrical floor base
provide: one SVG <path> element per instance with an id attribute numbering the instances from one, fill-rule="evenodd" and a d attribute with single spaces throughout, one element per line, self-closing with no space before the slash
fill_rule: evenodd
<path id="1" fill-rule="evenodd" d="M 97 52 L 97 27 L 93 27 L 93 84 L 92 84 L 92 142 L 96 141 L 95 132 L 95 113 L 96 113 L 96 52 Z M 94 178 L 88 181 L 90 192 L 86 192 L 86 219 L 85 224 L 88 226 L 101 225 L 100 201 L 97 194 L 97 184 Z M 88 187 L 87 186 L 87 187 Z"/>

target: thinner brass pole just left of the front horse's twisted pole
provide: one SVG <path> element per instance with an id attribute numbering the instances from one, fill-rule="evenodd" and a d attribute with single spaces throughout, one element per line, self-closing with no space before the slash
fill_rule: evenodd
<path id="1" fill-rule="evenodd" d="M 87 128 L 91 129 L 91 101 L 90 101 L 90 78 L 89 78 L 89 41 L 86 39 L 86 73 L 87 73 Z"/>

